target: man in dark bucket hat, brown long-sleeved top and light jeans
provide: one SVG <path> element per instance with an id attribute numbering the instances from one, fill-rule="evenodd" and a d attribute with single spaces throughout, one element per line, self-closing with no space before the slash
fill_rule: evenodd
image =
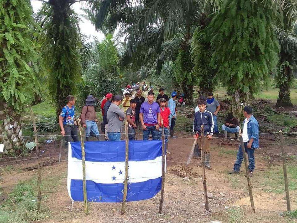
<path id="1" fill-rule="evenodd" d="M 95 100 L 96 99 L 93 97 L 93 95 L 88 95 L 86 99 L 86 105 L 83 106 L 81 111 L 81 121 L 83 123 L 83 127 L 86 128 L 86 141 L 89 141 L 91 131 L 99 141 L 99 131 L 96 123 L 97 118 L 93 105 Z"/>

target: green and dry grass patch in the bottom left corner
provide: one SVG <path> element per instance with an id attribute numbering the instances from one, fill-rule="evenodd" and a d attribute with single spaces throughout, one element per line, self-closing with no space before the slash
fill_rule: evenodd
<path id="1" fill-rule="evenodd" d="M 57 190 L 61 178 L 43 178 L 41 182 L 42 199 Z M 8 194 L 7 200 L 0 204 L 0 223 L 26 223 L 40 221 L 49 217 L 50 211 L 41 202 L 41 211 L 37 211 L 37 179 L 20 181 Z"/>

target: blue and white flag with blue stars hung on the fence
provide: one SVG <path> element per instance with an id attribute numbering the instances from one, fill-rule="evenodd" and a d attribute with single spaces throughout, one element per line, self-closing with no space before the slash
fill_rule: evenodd
<path id="1" fill-rule="evenodd" d="M 85 142 L 85 152 L 88 201 L 122 202 L 125 141 Z M 128 177 L 127 201 L 150 199 L 161 190 L 162 141 L 129 142 Z M 68 146 L 67 189 L 71 200 L 83 201 L 80 142 Z"/>

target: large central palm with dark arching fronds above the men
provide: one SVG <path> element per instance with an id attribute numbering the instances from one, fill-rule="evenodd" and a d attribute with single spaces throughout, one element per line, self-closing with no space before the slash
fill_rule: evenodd
<path id="1" fill-rule="evenodd" d="M 127 49 L 121 67 L 153 66 L 160 74 L 163 62 L 176 60 L 176 80 L 181 84 L 187 103 L 192 103 L 197 74 L 190 43 L 203 18 L 203 3 L 195 0 L 140 1 L 105 0 L 97 10 L 95 26 L 114 28 L 121 25 Z M 212 4 L 214 6 L 214 4 Z"/>

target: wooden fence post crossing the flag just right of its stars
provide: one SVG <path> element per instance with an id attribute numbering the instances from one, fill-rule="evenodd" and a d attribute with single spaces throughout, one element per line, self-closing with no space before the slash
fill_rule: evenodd
<path id="1" fill-rule="evenodd" d="M 124 194 L 123 194 L 123 202 L 121 208 L 121 215 L 126 212 L 126 200 L 127 200 L 127 192 L 128 192 L 128 165 L 129 165 L 129 129 L 128 129 L 128 121 L 127 114 L 125 116 L 125 136 L 126 136 L 126 162 L 125 162 L 125 179 L 124 179 Z"/>

